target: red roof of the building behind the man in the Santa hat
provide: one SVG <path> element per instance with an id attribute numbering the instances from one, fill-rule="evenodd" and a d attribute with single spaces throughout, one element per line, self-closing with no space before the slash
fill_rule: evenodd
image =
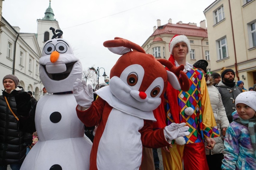
<path id="1" fill-rule="evenodd" d="M 197 27 L 195 25 L 189 24 L 166 24 L 160 26 L 154 31 L 151 36 L 159 35 L 159 34 L 179 34 L 179 35 L 186 35 L 186 36 L 195 36 L 195 37 L 208 37 L 207 30 Z"/>

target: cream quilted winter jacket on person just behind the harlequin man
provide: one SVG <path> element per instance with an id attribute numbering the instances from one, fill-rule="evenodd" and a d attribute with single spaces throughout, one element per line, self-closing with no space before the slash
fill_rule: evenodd
<path id="1" fill-rule="evenodd" d="M 213 149 L 211 149 L 211 154 L 220 154 L 224 149 L 223 139 L 221 138 L 222 135 L 222 128 L 227 128 L 229 125 L 227 115 L 225 112 L 225 108 L 222 104 L 221 94 L 219 93 L 218 89 L 215 86 L 208 85 L 207 89 L 210 97 L 210 102 L 212 105 L 212 112 L 219 130 L 219 137 L 213 138 L 216 142 Z M 205 141 L 205 146 L 207 146 L 207 142 Z M 210 149 L 205 148 L 206 155 L 210 154 Z"/>

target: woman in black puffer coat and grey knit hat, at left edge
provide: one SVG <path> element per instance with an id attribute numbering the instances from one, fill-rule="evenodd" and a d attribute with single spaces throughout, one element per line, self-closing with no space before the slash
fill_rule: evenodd
<path id="1" fill-rule="evenodd" d="M 15 75 L 3 78 L 5 90 L 0 96 L 0 169 L 7 169 L 8 165 L 11 169 L 20 169 L 26 157 L 26 146 L 32 144 L 32 134 L 19 131 L 17 126 L 20 115 L 14 96 L 24 92 L 18 83 L 19 79 Z"/>

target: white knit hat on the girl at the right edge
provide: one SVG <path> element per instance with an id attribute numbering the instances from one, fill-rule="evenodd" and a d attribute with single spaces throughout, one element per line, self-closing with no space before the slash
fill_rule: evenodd
<path id="1" fill-rule="evenodd" d="M 254 111 L 256 111 L 256 92 L 248 91 L 242 92 L 236 97 L 235 104 L 243 103 L 247 106 L 251 107 Z"/>

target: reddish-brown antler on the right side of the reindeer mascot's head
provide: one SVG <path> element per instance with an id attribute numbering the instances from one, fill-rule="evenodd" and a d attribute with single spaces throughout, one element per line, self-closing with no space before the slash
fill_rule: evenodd
<path id="1" fill-rule="evenodd" d="M 187 92 L 190 88 L 190 82 L 189 79 L 186 75 L 186 73 L 183 72 L 184 70 L 184 65 L 180 65 L 178 67 L 174 66 L 170 61 L 165 60 L 165 59 L 158 59 L 161 64 L 166 66 L 170 72 L 173 72 L 177 77 L 178 80 L 181 84 L 181 90 Z"/>

